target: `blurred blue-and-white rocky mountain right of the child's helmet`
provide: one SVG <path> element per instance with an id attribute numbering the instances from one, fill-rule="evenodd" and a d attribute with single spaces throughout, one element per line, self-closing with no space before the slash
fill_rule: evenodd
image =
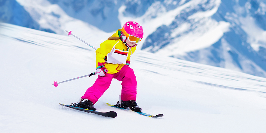
<path id="1" fill-rule="evenodd" d="M 265 77 L 265 1 L 189 1 L 142 49 Z"/>

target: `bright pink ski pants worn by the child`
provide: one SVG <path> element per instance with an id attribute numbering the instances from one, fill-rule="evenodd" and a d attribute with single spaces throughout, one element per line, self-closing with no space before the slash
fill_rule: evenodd
<path id="1" fill-rule="evenodd" d="M 82 99 L 89 99 L 95 104 L 103 93 L 111 85 L 112 79 L 122 81 L 121 100 L 136 100 L 137 99 L 137 80 L 133 69 L 124 65 L 122 69 L 115 74 L 105 74 L 105 76 L 98 76 L 94 84 L 87 89 Z"/>

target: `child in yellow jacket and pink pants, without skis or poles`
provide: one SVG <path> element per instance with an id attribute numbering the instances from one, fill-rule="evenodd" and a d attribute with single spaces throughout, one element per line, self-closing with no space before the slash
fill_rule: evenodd
<path id="1" fill-rule="evenodd" d="M 87 89 L 80 100 L 72 105 L 96 111 L 93 105 L 109 88 L 112 79 L 122 81 L 121 102 L 116 106 L 141 112 L 136 103 L 137 80 L 133 69 L 129 67 L 130 56 L 143 38 L 143 28 L 137 22 L 129 21 L 100 44 L 96 50 L 96 72 L 98 79 Z"/>

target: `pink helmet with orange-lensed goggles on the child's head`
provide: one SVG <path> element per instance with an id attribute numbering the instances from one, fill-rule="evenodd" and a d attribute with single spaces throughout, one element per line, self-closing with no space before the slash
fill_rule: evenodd
<path id="1" fill-rule="evenodd" d="M 143 28 L 137 22 L 129 21 L 122 27 L 122 33 L 130 42 L 139 43 L 143 38 Z"/>

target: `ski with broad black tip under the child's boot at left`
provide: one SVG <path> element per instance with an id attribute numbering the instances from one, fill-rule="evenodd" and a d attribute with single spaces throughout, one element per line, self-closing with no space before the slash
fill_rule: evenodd
<path id="1" fill-rule="evenodd" d="M 99 112 L 99 111 L 93 111 L 93 110 L 88 110 L 88 109 L 79 108 L 79 107 L 73 107 L 73 106 L 69 106 L 69 105 L 65 105 L 65 104 L 61 104 L 61 103 L 59 103 L 59 104 L 62 105 L 62 106 L 68 107 L 68 108 L 73 108 L 73 109 L 76 109 L 76 110 L 79 110 L 79 111 L 84 111 L 84 112 L 87 112 L 87 113 L 95 113 L 95 114 L 98 114 L 98 115 L 101 115 L 101 116 L 112 117 L 112 118 L 115 118 L 117 116 L 117 113 L 114 112 L 114 111 Z"/>

